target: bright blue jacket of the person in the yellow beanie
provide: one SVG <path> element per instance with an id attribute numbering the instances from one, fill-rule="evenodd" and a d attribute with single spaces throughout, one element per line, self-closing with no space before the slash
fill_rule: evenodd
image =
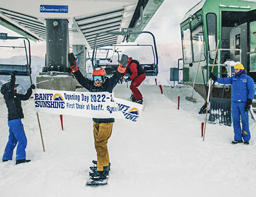
<path id="1" fill-rule="evenodd" d="M 241 75 L 227 78 L 217 78 L 218 83 L 232 84 L 232 102 L 246 103 L 247 99 L 253 100 L 255 94 L 254 81 L 247 75 L 246 70 Z"/>

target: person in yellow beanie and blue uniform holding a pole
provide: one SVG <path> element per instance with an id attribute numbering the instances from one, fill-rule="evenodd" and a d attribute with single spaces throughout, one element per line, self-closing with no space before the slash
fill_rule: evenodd
<path id="1" fill-rule="evenodd" d="M 234 72 L 235 75 L 227 78 L 219 78 L 211 73 L 209 78 L 221 84 L 232 84 L 232 119 L 234 129 L 234 140 L 232 144 L 249 144 L 251 134 L 248 111 L 250 110 L 255 94 L 254 81 L 253 78 L 247 75 L 243 64 L 236 64 L 234 66 Z"/>

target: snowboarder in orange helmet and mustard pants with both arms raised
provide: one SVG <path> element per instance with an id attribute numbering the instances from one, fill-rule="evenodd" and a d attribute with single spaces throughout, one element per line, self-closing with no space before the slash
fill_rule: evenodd
<path id="1" fill-rule="evenodd" d="M 79 68 L 77 68 L 77 59 L 73 53 L 68 55 L 69 65 L 76 77 L 77 81 L 90 92 L 109 92 L 112 93 L 113 88 L 122 78 L 126 68 L 119 65 L 118 70 L 111 76 L 106 77 L 103 68 L 95 68 L 93 71 L 93 80 L 85 78 Z M 94 180 L 105 179 L 109 174 L 109 154 L 108 140 L 111 137 L 114 118 L 93 118 L 94 128 L 94 145 L 97 152 L 97 169 L 93 169 L 90 177 Z M 95 162 L 94 162 L 95 163 Z"/>

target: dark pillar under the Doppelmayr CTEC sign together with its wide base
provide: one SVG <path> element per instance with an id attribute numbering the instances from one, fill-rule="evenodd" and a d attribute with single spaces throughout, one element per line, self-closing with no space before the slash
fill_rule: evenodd
<path id="1" fill-rule="evenodd" d="M 77 81 L 67 72 L 69 30 L 66 19 L 46 19 L 46 66 L 36 79 L 36 87 L 48 90 L 76 90 Z"/>

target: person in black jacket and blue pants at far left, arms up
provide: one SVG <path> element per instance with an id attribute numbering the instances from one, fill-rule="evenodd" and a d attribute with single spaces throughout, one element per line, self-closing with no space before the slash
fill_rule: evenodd
<path id="1" fill-rule="evenodd" d="M 30 160 L 26 159 L 27 138 L 24 132 L 24 127 L 21 119 L 24 118 L 22 110 L 22 100 L 26 101 L 32 94 L 32 89 L 35 85 L 32 84 L 27 90 L 26 94 L 17 93 L 17 86 L 15 84 L 17 71 L 13 71 L 10 75 L 10 81 L 1 86 L 1 93 L 5 99 L 6 107 L 8 108 L 8 126 L 9 126 L 9 140 L 3 153 L 2 162 L 12 160 L 13 149 L 17 145 L 16 151 L 16 165 L 19 163 L 27 163 Z"/>

